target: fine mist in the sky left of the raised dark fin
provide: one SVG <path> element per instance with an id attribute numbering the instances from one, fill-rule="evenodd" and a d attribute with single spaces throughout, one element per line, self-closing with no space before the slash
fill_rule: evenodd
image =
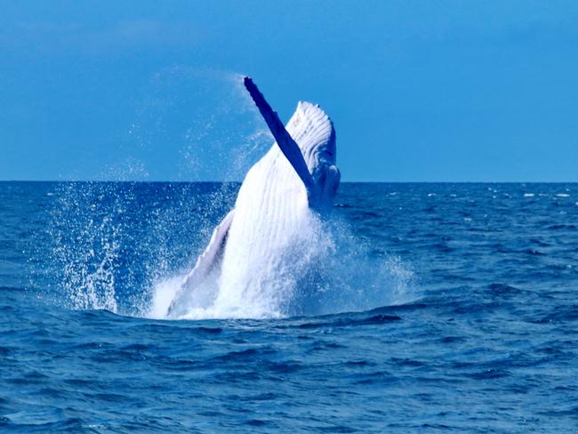
<path id="1" fill-rule="evenodd" d="M 115 150 L 94 149 L 109 153 L 108 164 L 99 173 L 72 173 L 73 179 L 240 181 L 272 142 L 235 72 L 163 68 L 132 105 L 124 135 L 111 138 Z"/>

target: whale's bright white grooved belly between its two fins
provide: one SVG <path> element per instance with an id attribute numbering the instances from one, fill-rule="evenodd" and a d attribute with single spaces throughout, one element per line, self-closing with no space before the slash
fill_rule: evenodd
<path id="1" fill-rule="evenodd" d="M 293 167 L 277 148 L 270 149 L 239 190 L 217 302 L 235 309 L 241 301 L 245 306 L 247 301 L 273 303 L 265 293 L 282 296 L 283 288 L 270 291 L 270 286 L 287 283 L 283 276 L 310 213 L 306 189 Z"/>

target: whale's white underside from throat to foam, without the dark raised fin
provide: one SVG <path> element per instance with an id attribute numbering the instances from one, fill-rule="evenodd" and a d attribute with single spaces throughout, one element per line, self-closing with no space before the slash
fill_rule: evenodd
<path id="1" fill-rule="evenodd" d="M 285 129 L 299 145 L 309 173 L 316 173 L 317 165 L 325 163 L 311 153 L 334 141 L 325 112 L 301 101 Z M 219 317 L 280 315 L 295 285 L 295 268 L 307 261 L 303 246 L 317 230 L 317 213 L 310 205 L 308 189 L 274 143 L 246 174 L 234 209 L 213 230 L 175 295 L 170 316 L 195 317 L 199 309 L 212 309 Z"/>

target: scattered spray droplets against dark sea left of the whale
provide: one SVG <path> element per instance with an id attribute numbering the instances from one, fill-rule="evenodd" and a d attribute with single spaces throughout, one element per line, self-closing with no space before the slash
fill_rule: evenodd
<path id="1" fill-rule="evenodd" d="M 70 309 L 140 315 L 154 282 L 190 267 L 209 233 L 203 222 L 230 206 L 225 191 L 216 183 L 57 184 L 44 295 Z"/>

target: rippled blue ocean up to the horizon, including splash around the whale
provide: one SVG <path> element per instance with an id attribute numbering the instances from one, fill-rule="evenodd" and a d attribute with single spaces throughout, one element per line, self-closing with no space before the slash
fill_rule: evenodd
<path id="1" fill-rule="evenodd" d="M 2 432 L 578 430 L 577 184 L 344 183 L 276 309 L 165 319 L 237 189 L 0 182 Z"/>

